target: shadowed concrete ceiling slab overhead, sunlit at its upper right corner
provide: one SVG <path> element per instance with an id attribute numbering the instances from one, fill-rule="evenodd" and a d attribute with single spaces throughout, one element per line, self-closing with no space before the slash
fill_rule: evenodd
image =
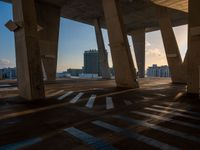
<path id="1" fill-rule="evenodd" d="M 10 2 L 11 0 L 1 0 Z M 101 0 L 37 0 L 62 8 L 61 16 L 67 19 L 93 25 L 100 18 L 106 28 Z M 127 33 L 145 28 L 146 31 L 158 30 L 155 5 L 168 7 L 173 26 L 187 24 L 188 0 L 119 0 Z"/>

